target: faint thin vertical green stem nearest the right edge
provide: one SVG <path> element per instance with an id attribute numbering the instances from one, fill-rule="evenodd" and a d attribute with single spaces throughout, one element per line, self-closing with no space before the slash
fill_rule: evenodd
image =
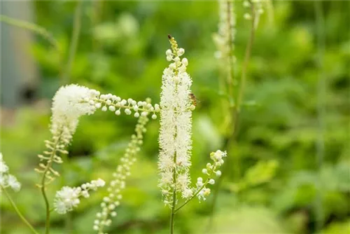
<path id="1" fill-rule="evenodd" d="M 318 85 L 317 85 L 317 122 L 318 138 L 316 141 L 316 160 L 318 167 L 318 183 L 316 196 L 316 230 L 320 231 L 323 226 L 323 205 L 322 205 L 322 188 L 321 188 L 321 170 L 324 158 L 324 130 L 325 130 L 325 95 L 326 80 L 323 69 L 323 56 L 325 53 L 325 32 L 324 32 L 324 15 L 321 1 L 314 1 L 316 38 L 317 38 L 317 68 L 318 68 Z"/>

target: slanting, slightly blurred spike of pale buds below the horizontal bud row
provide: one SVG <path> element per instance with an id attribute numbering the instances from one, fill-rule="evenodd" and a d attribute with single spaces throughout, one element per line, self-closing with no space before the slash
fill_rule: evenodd
<path id="1" fill-rule="evenodd" d="M 125 188 L 125 180 L 130 176 L 130 168 L 137 160 L 136 155 L 140 151 L 140 146 L 143 144 L 144 132 L 146 132 L 145 125 L 148 122 L 147 115 L 141 116 L 135 128 L 135 134 L 125 149 L 125 153 L 120 158 L 120 165 L 118 165 L 116 172 L 113 173 L 113 180 L 110 182 L 107 191 L 109 195 L 104 197 L 101 208 L 102 211 L 96 214 L 94 220 L 94 230 L 99 234 L 104 233 L 104 227 L 110 226 L 111 218 L 117 215 L 116 207 L 120 205 L 120 200 L 123 198 L 121 192 Z"/>

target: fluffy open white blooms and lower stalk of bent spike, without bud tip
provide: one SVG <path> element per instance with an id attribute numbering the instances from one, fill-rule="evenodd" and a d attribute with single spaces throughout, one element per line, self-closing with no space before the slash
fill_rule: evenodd
<path id="1" fill-rule="evenodd" d="M 59 88 L 53 97 L 50 131 L 52 140 L 45 140 L 46 151 L 38 155 L 41 161 L 36 172 L 43 174 L 43 181 L 38 186 L 50 183 L 59 173 L 52 168 L 52 163 L 62 163 L 59 153 L 67 154 L 66 146 L 71 142 L 79 117 L 90 115 L 96 111 L 93 99 L 99 96 L 99 91 L 79 85 L 66 85 Z M 53 176 L 52 176 L 53 175 Z"/>

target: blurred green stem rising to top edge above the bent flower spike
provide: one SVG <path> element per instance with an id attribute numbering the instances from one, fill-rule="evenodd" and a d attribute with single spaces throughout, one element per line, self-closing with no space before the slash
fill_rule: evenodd
<path id="1" fill-rule="evenodd" d="M 73 67 L 74 57 L 76 56 L 76 49 L 78 48 L 78 41 L 81 29 L 81 15 L 83 10 L 83 1 L 77 0 L 76 10 L 74 12 L 73 19 L 73 32 L 71 34 L 71 45 L 69 46 L 68 61 L 66 64 L 66 71 L 62 76 L 62 82 L 64 84 L 69 83 L 71 76 L 71 69 Z"/>

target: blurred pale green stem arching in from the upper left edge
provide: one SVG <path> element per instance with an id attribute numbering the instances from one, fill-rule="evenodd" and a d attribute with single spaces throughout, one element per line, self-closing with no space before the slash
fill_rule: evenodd
<path id="1" fill-rule="evenodd" d="M 43 27 L 40 27 L 31 22 L 10 18 L 6 15 L 0 15 L 0 22 L 6 22 L 8 25 L 28 29 L 31 32 L 39 34 L 44 39 L 46 39 L 56 50 L 59 51 L 59 46 L 56 39 L 52 36 L 50 32 L 48 32 L 48 30 L 44 29 Z"/>

